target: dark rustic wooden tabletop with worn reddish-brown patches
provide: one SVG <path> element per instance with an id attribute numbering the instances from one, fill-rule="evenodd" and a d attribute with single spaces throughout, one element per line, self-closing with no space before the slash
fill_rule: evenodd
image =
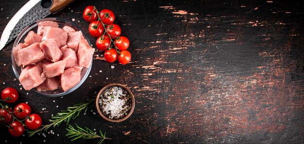
<path id="1" fill-rule="evenodd" d="M 27 1 L 0 0 L 0 33 Z M 75 20 L 88 34 L 82 18 L 87 5 L 114 11 L 122 35 L 130 39 L 130 64 L 99 60 L 102 52 L 96 51 L 79 89 L 46 98 L 19 90 L 13 44 L 0 51 L 0 89 L 17 88 L 18 102 L 28 102 L 43 124 L 103 86 L 121 83 L 135 95 L 128 120 L 107 122 L 93 109 L 71 124 L 106 132 L 113 140 L 104 144 L 304 144 L 303 2 L 76 0 L 53 16 Z M 98 142 L 70 142 L 65 128 L 51 128 L 54 134 L 44 132 L 46 137 L 13 138 L 0 127 L 0 143 Z"/>

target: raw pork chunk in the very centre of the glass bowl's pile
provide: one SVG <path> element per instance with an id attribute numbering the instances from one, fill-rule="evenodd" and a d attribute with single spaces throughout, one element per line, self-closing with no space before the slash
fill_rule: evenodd
<path id="1" fill-rule="evenodd" d="M 62 56 L 62 52 L 58 47 L 57 42 L 50 38 L 42 43 L 40 43 L 40 48 L 42 49 L 44 56 L 47 60 L 52 61 L 52 62 L 57 62 L 60 60 Z"/>

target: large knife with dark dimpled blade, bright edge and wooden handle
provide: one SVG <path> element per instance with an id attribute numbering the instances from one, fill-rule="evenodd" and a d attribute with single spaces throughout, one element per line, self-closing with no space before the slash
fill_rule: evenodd
<path id="1" fill-rule="evenodd" d="M 30 0 L 8 22 L 0 38 L 0 50 L 28 25 L 38 19 L 55 14 L 74 0 Z M 49 7 L 48 7 L 48 3 Z"/>

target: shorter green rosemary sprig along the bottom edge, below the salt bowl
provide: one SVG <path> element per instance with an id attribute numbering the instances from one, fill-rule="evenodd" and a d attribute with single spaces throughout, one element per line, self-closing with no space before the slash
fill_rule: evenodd
<path id="1" fill-rule="evenodd" d="M 73 138 L 71 141 L 75 141 L 80 138 L 83 138 L 83 139 L 100 138 L 101 140 L 98 142 L 98 144 L 101 144 L 105 139 L 112 140 L 110 138 L 106 138 L 105 132 L 102 133 L 101 130 L 99 130 L 100 135 L 98 135 L 89 128 L 86 128 L 86 127 L 81 128 L 77 124 L 75 124 L 75 125 L 76 125 L 76 128 L 74 128 L 71 125 L 68 125 L 68 128 L 67 128 L 68 133 L 66 134 L 66 136 L 68 136 L 68 138 Z"/>

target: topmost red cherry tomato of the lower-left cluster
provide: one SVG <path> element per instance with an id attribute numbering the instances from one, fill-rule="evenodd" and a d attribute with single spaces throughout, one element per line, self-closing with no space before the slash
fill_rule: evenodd
<path id="1" fill-rule="evenodd" d="M 16 89 L 7 87 L 1 92 L 1 98 L 7 103 L 14 103 L 17 101 L 19 95 Z"/>

